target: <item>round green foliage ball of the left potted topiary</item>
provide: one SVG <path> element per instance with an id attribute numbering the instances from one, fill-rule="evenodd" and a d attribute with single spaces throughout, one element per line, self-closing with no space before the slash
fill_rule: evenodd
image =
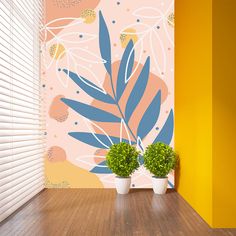
<path id="1" fill-rule="evenodd" d="M 119 177 L 129 177 L 139 167 L 139 152 L 128 143 L 113 144 L 106 155 L 107 166 Z"/>

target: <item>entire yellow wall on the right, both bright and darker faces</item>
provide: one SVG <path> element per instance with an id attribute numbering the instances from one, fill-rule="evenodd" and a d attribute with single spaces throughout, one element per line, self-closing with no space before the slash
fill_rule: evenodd
<path id="1" fill-rule="evenodd" d="M 177 0 L 177 191 L 219 228 L 236 227 L 234 0 Z"/>

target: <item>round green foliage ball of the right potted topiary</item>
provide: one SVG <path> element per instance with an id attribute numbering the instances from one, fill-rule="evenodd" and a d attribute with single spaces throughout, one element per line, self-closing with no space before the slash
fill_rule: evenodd
<path id="1" fill-rule="evenodd" d="M 155 177 L 166 177 L 177 164 L 177 155 L 174 150 L 160 142 L 149 145 L 143 157 L 144 166 Z"/>

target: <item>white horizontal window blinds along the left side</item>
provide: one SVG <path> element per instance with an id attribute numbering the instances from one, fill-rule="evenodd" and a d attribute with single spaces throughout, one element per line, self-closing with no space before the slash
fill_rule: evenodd
<path id="1" fill-rule="evenodd" d="M 0 0 L 0 222 L 44 188 L 41 0 Z"/>

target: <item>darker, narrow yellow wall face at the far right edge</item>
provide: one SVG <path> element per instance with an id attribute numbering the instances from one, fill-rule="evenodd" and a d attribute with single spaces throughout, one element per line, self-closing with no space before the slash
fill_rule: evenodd
<path id="1" fill-rule="evenodd" d="M 213 3 L 213 226 L 236 228 L 236 1 Z"/>

